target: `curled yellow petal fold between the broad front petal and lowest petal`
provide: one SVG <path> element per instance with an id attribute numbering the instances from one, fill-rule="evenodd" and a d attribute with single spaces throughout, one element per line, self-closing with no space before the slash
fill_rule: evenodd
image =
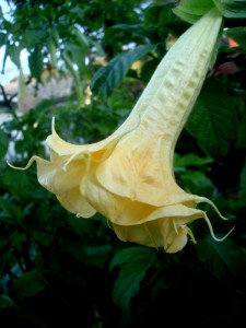
<path id="1" fill-rule="evenodd" d="M 101 186 L 96 178 L 90 174 L 87 179 L 83 179 L 80 190 L 93 208 L 119 225 L 136 225 L 169 216 L 178 218 L 178 224 L 186 224 L 198 218 L 203 218 L 203 212 L 195 209 L 196 202 L 189 200 L 189 195 L 186 199 L 187 203 L 159 208 L 113 194 Z"/>

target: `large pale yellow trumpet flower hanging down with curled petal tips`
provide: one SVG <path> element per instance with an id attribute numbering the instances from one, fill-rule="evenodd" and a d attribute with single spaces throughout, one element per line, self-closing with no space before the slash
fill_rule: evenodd
<path id="1" fill-rule="evenodd" d="M 98 211 L 121 241 L 176 253 L 187 236 L 195 242 L 188 225 L 200 218 L 216 239 L 206 212 L 197 209 L 199 202 L 216 210 L 215 206 L 176 184 L 173 154 L 210 67 L 221 25 L 222 16 L 213 9 L 177 39 L 127 120 L 110 137 L 71 144 L 59 138 L 52 124 L 47 138 L 50 161 L 33 156 L 25 168 L 35 161 L 38 181 L 63 208 L 82 218 Z"/>

